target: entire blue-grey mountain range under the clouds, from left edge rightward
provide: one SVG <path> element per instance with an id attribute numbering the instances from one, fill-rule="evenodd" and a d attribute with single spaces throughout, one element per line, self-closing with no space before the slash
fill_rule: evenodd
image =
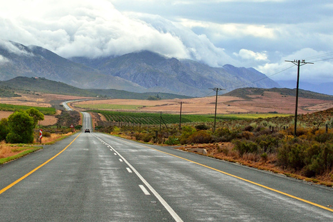
<path id="1" fill-rule="evenodd" d="M 0 44 L 0 80 L 17 76 L 42 77 L 81 89 L 121 89 L 205 96 L 218 87 L 279 87 L 253 68 L 209 67 L 193 60 L 167 58 L 139 51 L 108 58 L 62 58 L 40 46 L 16 42 Z"/>

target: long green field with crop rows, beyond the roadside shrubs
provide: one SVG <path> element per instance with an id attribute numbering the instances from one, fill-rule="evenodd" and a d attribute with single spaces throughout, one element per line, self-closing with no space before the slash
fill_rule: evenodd
<path id="1" fill-rule="evenodd" d="M 88 112 L 98 112 L 105 116 L 108 121 L 126 122 L 137 124 L 155 125 L 160 124 L 160 113 L 145 113 L 145 112 L 116 112 L 109 110 L 89 110 Z M 268 117 L 285 117 L 289 114 L 219 114 L 216 120 L 223 119 L 259 119 Z M 165 123 L 179 123 L 179 114 L 162 114 L 162 119 Z M 182 123 L 202 123 L 214 121 L 213 114 L 198 115 L 198 114 L 182 114 Z"/>

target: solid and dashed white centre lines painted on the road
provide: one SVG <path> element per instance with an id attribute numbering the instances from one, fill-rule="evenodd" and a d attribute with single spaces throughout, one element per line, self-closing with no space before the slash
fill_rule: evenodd
<path id="1" fill-rule="evenodd" d="M 178 216 L 178 214 L 176 214 L 176 212 L 173 211 L 173 209 L 169 206 L 169 204 L 162 198 L 162 196 L 160 196 L 160 194 L 157 193 L 157 191 L 155 191 L 155 189 L 153 189 L 153 187 L 151 187 L 151 185 L 141 176 L 141 174 L 120 154 L 118 153 L 112 146 L 110 146 L 110 144 L 106 143 L 103 141 L 103 139 L 97 137 L 96 135 L 94 135 L 94 137 L 96 137 L 96 139 L 99 139 L 99 141 L 102 144 L 105 144 L 105 146 L 107 146 L 108 148 L 110 148 L 110 151 L 114 152 L 115 156 L 120 157 L 119 161 L 120 162 L 125 162 L 128 167 L 126 167 L 126 170 L 128 171 L 128 173 L 135 173 L 137 175 L 137 177 L 142 180 L 142 182 L 144 183 L 144 185 L 139 185 L 139 188 L 142 189 L 142 192 L 145 195 L 151 195 L 151 193 L 153 193 L 155 195 L 155 197 L 160 200 L 160 203 L 164 206 L 164 208 L 169 212 L 169 214 L 171 214 L 171 216 L 173 217 L 173 219 L 176 222 L 182 222 L 182 219 L 180 218 L 180 216 Z M 146 189 L 146 187 L 148 189 Z M 151 191 L 151 193 L 149 191 Z"/>

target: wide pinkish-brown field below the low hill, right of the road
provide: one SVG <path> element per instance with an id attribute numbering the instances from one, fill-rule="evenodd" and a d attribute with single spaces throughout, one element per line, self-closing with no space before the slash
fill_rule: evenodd
<path id="1" fill-rule="evenodd" d="M 242 113 L 269 113 L 293 114 L 295 112 L 295 97 L 282 96 L 278 92 L 265 92 L 263 95 L 250 95 L 250 99 L 241 99 L 235 96 L 219 96 L 217 114 L 242 114 Z M 72 103 L 76 108 L 85 107 L 94 109 L 102 104 L 110 105 L 110 110 L 133 110 L 136 112 L 163 112 L 177 114 L 180 112 L 182 102 L 182 114 L 214 114 L 215 96 L 194 99 L 172 99 L 162 101 L 108 99 L 95 101 L 80 101 Z M 117 109 L 117 105 L 119 108 Z M 123 105 L 123 106 L 121 106 Z M 298 114 L 318 112 L 333 107 L 332 101 L 321 99 L 298 99 Z M 115 109 L 114 109 L 115 108 Z M 107 108 L 105 108 L 106 110 Z"/>

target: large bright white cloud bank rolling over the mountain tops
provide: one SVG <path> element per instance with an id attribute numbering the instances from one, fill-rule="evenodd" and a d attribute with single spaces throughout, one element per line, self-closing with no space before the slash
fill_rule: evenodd
<path id="1" fill-rule="evenodd" d="M 69 5 L 62 8 L 67 3 Z M 10 6 L 8 3 L 4 8 Z M 205 35 L 196 35 L 189 28 L 160 16 L 130 18 L 106 0 L 93 3 L 58 0 L 52 4 L 30 0 L 24 1 L 24 7 L 25 10 L 15 9 L 10 19 L 3 18 L 1 22 L 0 17 L 1 37 L 42 46 L 66 58 L 96 58 L 151 50 L 213 66 L 232 62 L 223 49 L 216 48 Z"/>

